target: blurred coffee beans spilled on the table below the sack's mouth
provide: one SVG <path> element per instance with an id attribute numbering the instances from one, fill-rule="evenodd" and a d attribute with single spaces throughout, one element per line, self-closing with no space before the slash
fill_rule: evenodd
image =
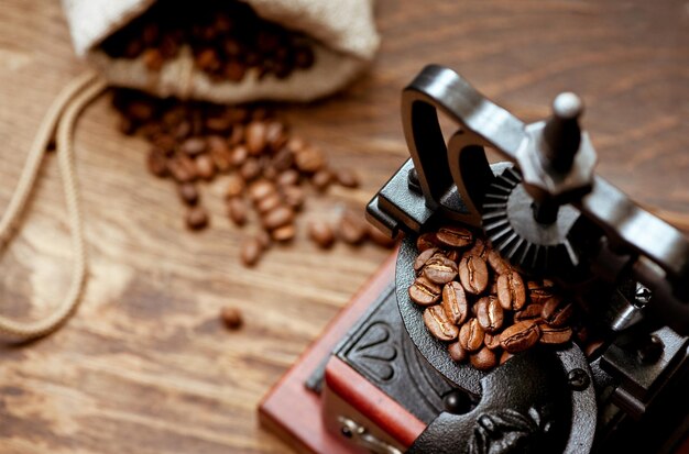
<path id="1" fill-rule="evenodd" d="M 226 180 L 230 221 L 242 228 L 259 220 L 260 232 L 242 243 L 247 266 L 255 265 L 272 243 L 295 237 L 307 195 L 325 193 L 330 185 L 359 186 L 354 173 L 329 167 L 317 146 L 260 107 L 182 102 L 125 89 L 116 90 L 113 106 L 121 112 L 121 131 L 151 143 L 150 173 L 175 182 L 188 229 L 208 226 L 199 186 L 218 177 Z M 394 244 L 364 221 L 363 207 L 359 213 L 344 211 L 336 226 L 311 222 L 308 236 L 322 248 L 338 239 L 352 245 L 365 240 Z"/>

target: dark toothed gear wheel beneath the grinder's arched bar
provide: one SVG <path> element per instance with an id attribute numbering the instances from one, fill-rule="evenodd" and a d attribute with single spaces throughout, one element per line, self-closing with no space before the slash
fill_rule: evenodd
<path id="1" fill-rule="evenodd" d="M 534 219 L 534 199 L 514 168 L 505 169 L 483 199 L 483 230 L 494 247 L 510 263 L 525 272 L 567 272 L 579 264 L 579 255 L 567 235 L 579 211 L 561 206 L 553 224 Z"/>

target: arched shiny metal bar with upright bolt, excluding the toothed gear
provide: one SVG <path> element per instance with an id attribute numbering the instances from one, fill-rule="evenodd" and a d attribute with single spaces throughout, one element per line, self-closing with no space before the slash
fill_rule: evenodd
<path id="1" fill-rule="evenodd" d="M 438 110 L 460 126 L 447 146 Z M 483 196 L 494 178 L 483 150 L 490 146 L 518 167 L 538 225 L 554 222 L 562 204 L 578 209 L 598 226 L 598 250 L 606 252 L 588 251 L 588 259 L 621 257 L 617 275 L 630 273 L 650 288 L 649 310 L 689 333 L 689 242 L 593 173 L 595 151 L 578 123 L 582 111 L 576 95 L 561 93 L 550 119 L 525 124 L 453 70 L 425 67 L 402 95 L 404 134 L 425 204 L 445 219 L 481 226 Z M 376 211 L 370 207 L 372 217 Z"/>

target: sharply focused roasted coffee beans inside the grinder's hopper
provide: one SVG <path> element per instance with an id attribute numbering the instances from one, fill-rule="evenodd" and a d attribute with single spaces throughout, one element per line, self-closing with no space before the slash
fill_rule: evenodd
<path id="1" fill-rule="evenodd" d="M 551 281 L 518 273 L 482 235 L 445 225 L 416 246 L 409 298 L 426 308 L 426 328 L 453 361 L 490 370 L 536 344 L 584 340 L 576 304 Z"/>

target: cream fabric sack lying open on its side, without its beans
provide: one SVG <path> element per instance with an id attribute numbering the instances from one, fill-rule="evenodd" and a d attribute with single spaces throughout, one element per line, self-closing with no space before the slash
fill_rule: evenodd
<path id="1" fill-rule="evenodd" d="M 315 65 L 286 79 L 261 80 L 249 71 L 241 82 L 215 81 L 195 68 L 183 49 L 160 71 L 142 58 L 111 58 L 98 45 L 155 0 L 63 0 L 77 55 L 90 62 L 114 86 L 138 88 L 161 97 L 203 99 L 220 103 L 255 100 L 310 101 L 341 89 L 373 59 L 380 37 L 373 0 L 244 0 L 263 19 L 313 37 Z M 203 2 L 195 2 L 203 8 Z"/>

